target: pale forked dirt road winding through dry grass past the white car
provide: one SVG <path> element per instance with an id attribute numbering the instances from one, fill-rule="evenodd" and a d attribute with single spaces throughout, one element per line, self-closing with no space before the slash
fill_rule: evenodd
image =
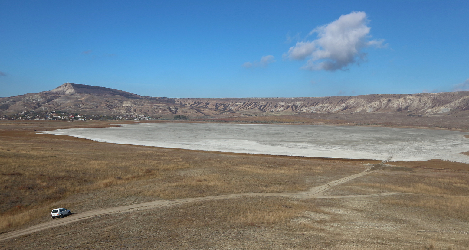
<path id="1" fill-rule="evenodd" d="M 380 163 L 381 164 L 381 163 Z M 361 173 L 346 176 L 340 178 L 335 181 L 331 181 L 327 184 L 313 187 L 308 191 L 299 192 L 299 193 L 241 193 L 241 194 L 226 194 L 226 195 L 217 195 L 217 196 L 209 196 L 209 197 L 197 197 L 197 198 L 185 198 L 185 199 L 172 199 L 172 200 L 157 200 L 151 202 L 145 202 L 140 204 L 133 204 L 128 206 L 119 206 L 119 207 L 112 207 L 103 210 L 97 211 L 90 211 L 84 213 L 76 213 L 71 216 L 67 216 L 62 219 L 55 219 L 49 222 L 41 223 L 29 228 L 23 228 L 17 231 L 8 232 L 5 234 L 0 235 L 0 241 L 7 240 L 15 237 L 19 237 L 22 235 L 28 235 L 40 230 L 44 230 L 47 228 L 58 227 L 62 225 L 66 225 L 72 222 L 85 220 L 91 217 L 103 215 L 103 214 L 110 214 L 110 213 L 126 213 L 126 212 L 134 212 L 143 209 L 150 209 L 150 208 L 157 208 L 162 206 L 172 206 L 172 205 L 179 205 L 182 203 L 187 202 L 194 202 L 194 201 L 204 201 L 204 200 L 216 200 L 216 199 L 235 199 L 235 198 L 243 198 L 243 197 L 267 197 L 267 196 L 277 196 L 277 197 L 290 197 L 290 198 L 297 198 L 297 199 L 310 199 L 310 198 L 351 198 L 351 197 L 372 197 L 372 196 L 381 196 L 381 195 L 391 195 L 396 194 L 395 192 L 386 192 L 381 194 L 371 194 L 371 195 L 323 195 L 325 191 L 332 188 L 333 186 L 337 186 L 339 184 L 346 183 L 350 180 L 358 178 L 360 176 L 364 176 L 373 172 L 372 169 L 368 169 Z"/>

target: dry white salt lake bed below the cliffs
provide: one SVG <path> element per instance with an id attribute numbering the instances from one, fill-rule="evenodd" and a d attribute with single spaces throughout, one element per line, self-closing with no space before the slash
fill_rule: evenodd
<path id="1" fill-rule="evenodd" d="M 328 125 L 139 123 L 109 128 L 59 129 L 69 135 L 109 143 L 195 150 L 469 163 L 468 132 Z"/>

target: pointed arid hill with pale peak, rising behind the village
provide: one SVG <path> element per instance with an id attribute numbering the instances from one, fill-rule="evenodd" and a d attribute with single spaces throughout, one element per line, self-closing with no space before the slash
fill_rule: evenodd
<path id="1" fill-rule="evenodd" d="M 50 91 L 0 98 L 0 114 L 14 114 L 25 110 L 153 116 L 205 116 L 221 113 L 218 110 L 195 109 L 175 104 L 173 98 L 139 96 L 117 89 L 69 82 Z"/>

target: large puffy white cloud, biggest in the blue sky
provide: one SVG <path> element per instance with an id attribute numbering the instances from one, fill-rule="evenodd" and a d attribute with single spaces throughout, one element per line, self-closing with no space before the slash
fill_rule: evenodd
<path id="1" fill-rule="evenodd" d="M 350 64 L 365 59 L 363 48 L 384 47 L 384 40 L 367 40 L 370 36 L 369 20 L 364 12 L 351 12 L 339 19 L 319 26 L 310 32 L 317 33 L 313 41 L 298 42 L 291 47 L 285 57 L 295 60 L 310 58 L 303 69 L 346 70 Z"/>

